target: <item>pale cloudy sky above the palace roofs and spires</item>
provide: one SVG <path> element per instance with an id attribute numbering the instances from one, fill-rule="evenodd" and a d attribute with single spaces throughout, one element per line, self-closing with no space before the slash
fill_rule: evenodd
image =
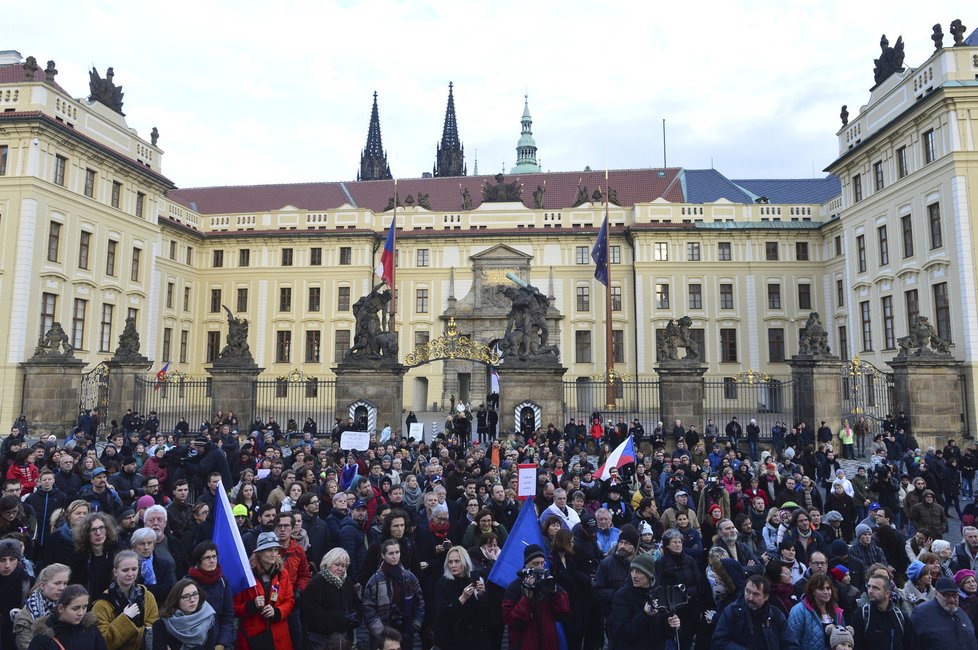
<path id="1" fill-rule="evenodd" d="M 131 128 L 178 187 L 356 178 L 374 91 L 398 178 L 430 172 L 448 83 L 469 174 L 515 164 L 523 95 L 546 171 L 715 167 L 811 178 L 869 99 L 885 33 L 905 65 L 964 2 L 177 0 L 5 7 L 0 49 L 88 95 L 113 66 Z M 973 6 L 973 5 L 970 5 Z"/>

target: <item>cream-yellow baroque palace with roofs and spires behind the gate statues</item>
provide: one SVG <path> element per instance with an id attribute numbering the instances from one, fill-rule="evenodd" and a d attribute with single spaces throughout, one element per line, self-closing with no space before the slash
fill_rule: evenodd
<path id="1" fill-rule="evenodd" d="M 91 368 L 134 316 L 154 371 L 169 361 L 171 372 L 202 376 L 223 345 L 227 305 L 250 322 L 264 376 L 331 377 L 351 345 L 351 307 L 378 282 L 395 213 L 402 359 L 440 336 L 476 287 L 505 282 L 512 263 L 554 298 L 565 379 L 601 375 L 605 289 L 590 251 L 610 196 L 619 372 L 654 379 L 656 330 L 688 315 L 708 378 L 749 368 L 787 377 L 812 311 L 833 353 L 886 369 L 910 320 L 926 315 L 963 362 L 971 429 L 978 47 L 969 41 L 879 82 L 838 132 L 839 158 L 820 179 L 540 172 L 528 104 L 513 173 L 467 176 L 450 90 L 433 173 L 398 180 L 396 210 L 376 96 L 355 182 L 176 189 L 155 133 L 127 126 L 111 76 L 93 70 L 92 95 L 76 99 L 53 62 L 0 53 L 0 421 L 17 415 L 19 364 L 53 322 Z M 494 256 L 501 265 L 474 270 Z M 442 407 L 449 394 L 482 401 L 485 377 L 447 369 L 412 368 L 405 406 Z"/>

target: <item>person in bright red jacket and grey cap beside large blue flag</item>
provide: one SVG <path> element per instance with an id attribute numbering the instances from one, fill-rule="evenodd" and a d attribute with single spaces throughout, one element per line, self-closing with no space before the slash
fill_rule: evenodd
<path id="1" fill-rule="evenodd" d="M 275 533 L 258 536 L 251 554 L 256 584 L 234 597 L 234 615 L 240 622 L 235 642 L 238 650 L 292 650 L 288 618 L 295 607 L 295 597 L 280 550 Z"/>

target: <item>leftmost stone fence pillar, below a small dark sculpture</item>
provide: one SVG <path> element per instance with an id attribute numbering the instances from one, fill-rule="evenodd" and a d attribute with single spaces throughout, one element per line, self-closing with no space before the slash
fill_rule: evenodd
<path id="1" fill-rule="evenodd" d="M 85 362 L 60 355 L 35 355 L 20 365 L 24 369 L 21 412 L 32 435 L 65 437 L 78 418 Z"/>

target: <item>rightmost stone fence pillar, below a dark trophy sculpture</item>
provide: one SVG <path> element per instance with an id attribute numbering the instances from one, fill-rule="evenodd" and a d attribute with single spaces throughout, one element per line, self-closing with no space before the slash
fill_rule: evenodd
<path id="1" fill-rule="evenodd" d="M 910 432 L 921 449 L 944 447 L 948 438 L 961 439 L 964 400 L 961 362 L 942 355 L 902 355 L 888 362 L 893 368 L 894 411 L 910 416 Z"/>

